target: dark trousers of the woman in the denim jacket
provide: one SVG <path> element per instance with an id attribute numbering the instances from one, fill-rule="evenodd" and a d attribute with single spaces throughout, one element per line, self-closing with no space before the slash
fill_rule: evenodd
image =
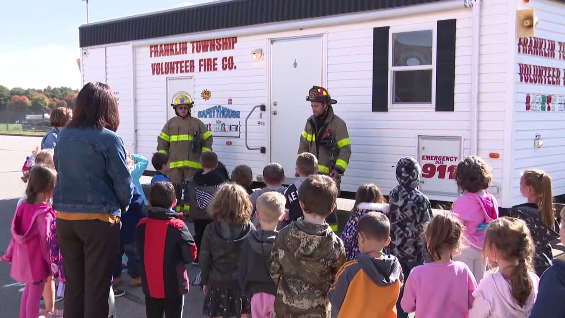
<path id="1" fill-rule="evenodd" d="M 65 316 L 107 318 L 120 225 L 100 220 L 59 218 L 57 235 L 67 280 Z"/>

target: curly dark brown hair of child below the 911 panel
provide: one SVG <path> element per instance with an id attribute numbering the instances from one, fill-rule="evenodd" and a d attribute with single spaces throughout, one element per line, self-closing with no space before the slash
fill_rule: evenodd
<path id="1" fill-rule="evenodd" d="M 483 158 L 469 156 L 457 165 L 455 182 L 461 193 L 486 190 L 492 185 L 492 169 Z"/>

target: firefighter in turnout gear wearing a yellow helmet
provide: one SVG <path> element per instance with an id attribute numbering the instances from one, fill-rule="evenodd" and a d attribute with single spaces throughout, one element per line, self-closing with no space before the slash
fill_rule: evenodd
<path id="1" fill-rule="evenodd" d="M 202 169 L 200 155 L 212 151 L 212 133 L 198 118 L 190 115 L 194 106 L 186 92 L 173 95 L 171 106 L 176 117 L 171 118 L 157 137 L 157 151 L 169 155 L 169 179 L 175 185 L 176 197 L 182 197 L 183 181 Z M 177 210 L 189 210 L 188 203 L 179 203 Z"/>

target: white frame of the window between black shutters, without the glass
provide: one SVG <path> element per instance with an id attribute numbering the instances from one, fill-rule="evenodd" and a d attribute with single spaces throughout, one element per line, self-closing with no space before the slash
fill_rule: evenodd
<path id="1" fill-rule="evenodd" d="M 416 66 L 393 66 L 394 58 L 394 34 L 414 31 L 432 31 L 432 64 L 431 65 L 416 65 Z M 388 108 L 389 109 L 434 109 L 436 105 L 436 67 L 437 67 L 437 23 L 413 24 L 402 25 L 397 27 L 390 27 L 389 29 L 389 61 L 388 61 Z M 432 70 L 432 100 L 429 103 L 420 104 L 394 104 L 393 100 L 393 74 L 394 71 L 418 71 L 418 70 Z"/>

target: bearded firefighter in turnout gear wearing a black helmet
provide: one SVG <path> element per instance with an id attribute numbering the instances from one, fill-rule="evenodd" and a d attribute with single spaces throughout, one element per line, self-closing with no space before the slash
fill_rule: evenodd
<path id="1" fill-rule="evenodd" d="M 341 192 L 341 176 L 351 157 L 351 141 L 343 119 L 333 113 L 332 100 L 327 89 L 314 86 L 308 92 L 306 100 L 312 107 L 312 116 L 306 121 L 306 127 L 300 137 L 298 154 L 313 153 L 318 158 L 320 174 L 329 175 L 336 182 L 338 195 Z M 326 220 L 337 231 L 336 211 Z"/>

